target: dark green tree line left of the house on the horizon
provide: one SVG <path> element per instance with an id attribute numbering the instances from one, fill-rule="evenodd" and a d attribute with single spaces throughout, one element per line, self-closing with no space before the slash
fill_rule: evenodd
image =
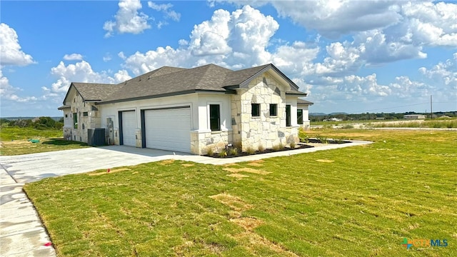
<path id="1" fill-rule="evenodd" d="M 38 117 L 34 119 L 0 119 L 0 125 L 3 126 L 16 126 L 19 128 L 34 128 L 34 129 L 62 129 L 64 126 L 64 118 L 59 121 L 51 117 Z"/>

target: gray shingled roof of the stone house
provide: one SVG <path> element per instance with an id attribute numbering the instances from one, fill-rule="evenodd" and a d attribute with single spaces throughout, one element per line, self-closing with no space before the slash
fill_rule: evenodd
<path id="1" fill-rule="evenodd" d="M 151 99 L 198 91 L 216 91 L 233 94 L 233 89 L 248 84 L 259 74 L 273 69 L 291 85 L 287 94 L 301 94 L 298 86 L 281 73 L 273 64 L 232 71 L 214 64 L 192 69 L 164 66 L 120 84 L 72 83 L 85 101 L 107 104 L 118 101 Z"/>

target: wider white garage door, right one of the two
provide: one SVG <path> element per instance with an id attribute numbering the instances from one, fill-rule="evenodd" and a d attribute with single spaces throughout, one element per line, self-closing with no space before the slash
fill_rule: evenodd
<path id="1" fill-rule="evenodd" d="M 146 147 L 191 152 L 191 109 L 144 111 Z"/>

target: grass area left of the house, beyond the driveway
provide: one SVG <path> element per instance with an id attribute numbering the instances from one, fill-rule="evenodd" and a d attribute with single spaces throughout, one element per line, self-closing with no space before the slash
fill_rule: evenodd
<path id="1" fill-rule="evenodd" d="M 31 143 L 29 139 L 39 139 L 39 142 Z M 4 126 L 0 128 L 0 140 L 0 154 L 4 156 L 88 147 L 87 143 L 64 140 L 61 129 Z"/>

